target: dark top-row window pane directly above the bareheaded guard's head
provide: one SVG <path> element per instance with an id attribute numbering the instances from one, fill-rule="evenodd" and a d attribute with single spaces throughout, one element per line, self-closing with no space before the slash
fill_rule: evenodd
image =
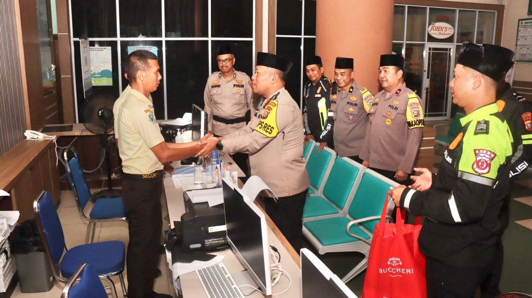
<path id="1" fill-rule="evenodd" d="M 119 0 L 121 37 L 162 37 L 161 0 Z"/>

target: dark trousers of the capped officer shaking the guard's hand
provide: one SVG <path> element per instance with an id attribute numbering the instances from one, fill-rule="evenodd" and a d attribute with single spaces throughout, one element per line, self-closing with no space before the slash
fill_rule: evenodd
<path id="1" fill-rule="evenodd" d="M 300 253 L 303 243 L 303 222 L 301 218 L 303 217 L 303 207 L 305 206 L 306 193 L 308 191 L 308 189 L 305 189 L 288 197 L 280 197 L 277 202 L 272 198 L 264 198 L 266 214 L 268 214 L 297 253 Z"/>

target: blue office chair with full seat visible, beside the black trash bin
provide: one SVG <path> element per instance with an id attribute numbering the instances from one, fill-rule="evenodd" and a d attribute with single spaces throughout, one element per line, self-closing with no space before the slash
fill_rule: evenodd
<path id="1" fill-rule="evenodd" d="M 66 249 L 61 221 L 47 191 L 41 192 L 35 199 L 34 212 L 48 264 L 56 280 L 66 283 L 80 265 L 90 263 L 96 274 L 107 277 L 113 297 L 117 297 L 117 289 L 109 277 L 116 275 L 120 277 L 124 296 L 127 295 L 122 275 L 126 258 L 126 246 L 123 242 L 104 241 Z"/>

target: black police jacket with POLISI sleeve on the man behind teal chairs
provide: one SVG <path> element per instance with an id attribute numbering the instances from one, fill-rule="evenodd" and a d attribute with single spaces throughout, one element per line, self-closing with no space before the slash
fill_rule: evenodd
<path id="1" fill-rule="evenodd" d="M 313 84 L 308 81 L 303 88 L 305 92 L 303 95 L 305 134 L 312 134 L 314 140 L 319 140 L 321 133 L 325 129 L 327 113 L 331 106 L 329 96 L 332 81 L 322 75 L 317 83 Z M 323 142 L 327 142 L 328 147 L 332 147 L 332 142 L 330 142 L 331 134 L 327 134 L 327 137 L 321 139 Z"/>

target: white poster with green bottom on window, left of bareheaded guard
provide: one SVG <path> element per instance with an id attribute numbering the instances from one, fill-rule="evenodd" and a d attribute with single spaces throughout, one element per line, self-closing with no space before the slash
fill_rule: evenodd
<path id="1" fill-rule="evenodd" d="M 90 47 L 90 78 L 93 86 L 113 86 L 111 47 Z"/>

